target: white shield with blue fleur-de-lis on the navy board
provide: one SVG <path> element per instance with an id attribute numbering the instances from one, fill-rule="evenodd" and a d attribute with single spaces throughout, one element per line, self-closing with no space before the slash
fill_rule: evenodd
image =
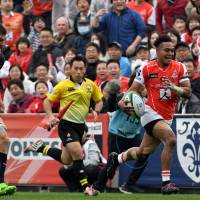
<path id="1" fill-rule="evenodd" d="M 177 154 L 183 171 L 200 183 L 200 124 L 196 119 L 176 119 Z"/>

